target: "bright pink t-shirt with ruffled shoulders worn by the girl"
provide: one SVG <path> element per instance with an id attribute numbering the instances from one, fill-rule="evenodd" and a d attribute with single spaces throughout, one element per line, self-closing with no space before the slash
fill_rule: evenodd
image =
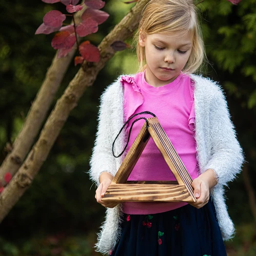
<path id="1" fill-rule="evenodd" d="M 154 113 L 192 179 L 198 177 L 196 158 L 194 82 L 188 75 L 180 75 L 165 86 L 153 87 L 145 81 L 144 72 L 135 77 L 123 76 L 124 121 L 132 115 Z M 134 117 L 126 127 L 129 132 Z M 126 152 L 129 151 L 145 120 L 137 121 L 132 129 Z M 176 180 L 152 138 L 148 141 L 128 180 Z M 184 206 L 185 202 L 123 202 L 126 214 L 157 214 Z"/>

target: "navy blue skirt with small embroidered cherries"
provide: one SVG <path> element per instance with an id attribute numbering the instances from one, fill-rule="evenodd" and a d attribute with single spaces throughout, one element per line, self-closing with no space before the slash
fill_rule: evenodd
<path id="1" fill-rule="evenodd" d="M 152 215 L 122 217 L 122 235 L 112 256 L 226 256 L 211 199 Z"/>

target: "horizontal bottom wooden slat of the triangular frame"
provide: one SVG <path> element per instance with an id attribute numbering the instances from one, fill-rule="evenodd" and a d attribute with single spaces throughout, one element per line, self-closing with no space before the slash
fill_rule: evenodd
<path id="1" fill-rule="evenodd" d="M 110 184 L 102 201 L 193 202 L 184 185 Z"/>

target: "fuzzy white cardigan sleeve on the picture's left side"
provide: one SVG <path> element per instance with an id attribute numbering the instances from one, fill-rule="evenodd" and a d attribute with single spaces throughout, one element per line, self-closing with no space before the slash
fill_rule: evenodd
<path id="1" fill-rule="evenodd" d="M 116 110 L 113 107 L 115 101 L 115 84 L 109 86 L 101 96 L 98 127 L 95 144 L 90 159 L 90 179 L 99 185 L 99 176 L 108 172 L 113 177 L 116 172 L 116 161 L 112 155 L 112 143 L 114 134 L 114 123 Z M 112 121 L 111 121 L 112 120 Z"/>

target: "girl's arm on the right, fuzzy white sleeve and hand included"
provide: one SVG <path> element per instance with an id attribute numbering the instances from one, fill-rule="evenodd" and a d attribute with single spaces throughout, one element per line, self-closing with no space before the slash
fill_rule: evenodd
<path id="1" fill-rule="evenodd" d="M 226 185 L 236 177 L 244 159 L 230 120 L 225 97 L 218 87 L 215 87 L 214 93 L 209 105 L 207 134 L 211 141 L 211 157 L 202 174 L 192 183 L 197 202 L 191 205 L 197 208 L 208 202 L 210 190 L 214 186 Z"/>

